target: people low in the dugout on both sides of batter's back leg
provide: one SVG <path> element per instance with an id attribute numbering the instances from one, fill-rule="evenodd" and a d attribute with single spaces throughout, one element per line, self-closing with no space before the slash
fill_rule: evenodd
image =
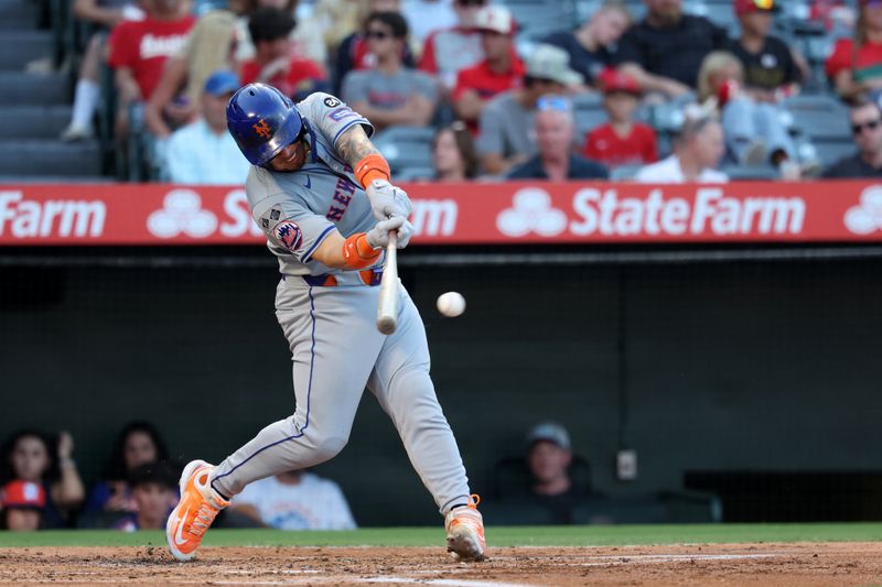
<path id="1" fill-rule="evenodd" d="M 0 529 L 160 530 L 178 503 L 181 465 L 147 422 L 123 426 L 99 480 L 87 491 L 68 433 L 25 430 L 0 452 Z M 248 486 L 223 517 L 226 528 L 351 530 L 355 519 L 340 487 L 309 471 Z"/>

